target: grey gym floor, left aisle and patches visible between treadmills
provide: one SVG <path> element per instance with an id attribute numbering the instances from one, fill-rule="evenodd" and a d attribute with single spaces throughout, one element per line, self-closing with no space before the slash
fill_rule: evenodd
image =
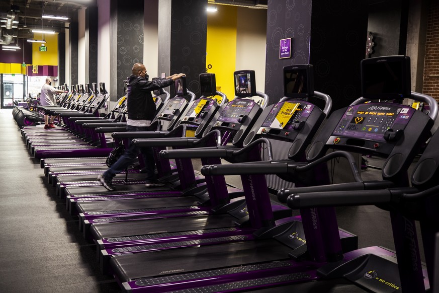
<path id="1" fill-rule="evenodd" d="M 2 292 L 119 292 L 116 281 L 101 274 L 95 245 L 84 240 L 77 218 L 66 211 L 65 201 L 48 184 L 39 161 L 30 157 L 11 109 L 0 109 L 0 137 Z M 367 160 L 378 167 L 383 163 Z M 194 166 L 199 170 L 199 164 Z M 379 180 L 381 171 L 368 168 L 362 176 Z M 239 187 L 238 179 L 229 177 L 228 183 Z M 358 235 L 359 248 L 394 249 L 387 211 L 375 206 L 340 207 L 337 216 L 340 228 Z M 421 257 L 424 260 L 423 252 Z"/>

